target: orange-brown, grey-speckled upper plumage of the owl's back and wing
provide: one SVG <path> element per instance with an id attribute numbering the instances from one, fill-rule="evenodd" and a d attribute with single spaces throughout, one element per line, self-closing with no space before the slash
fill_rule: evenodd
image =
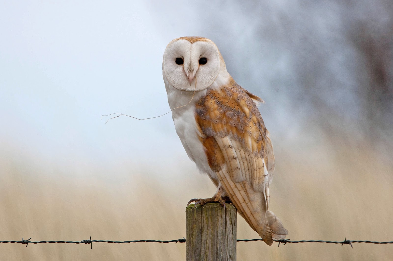
<path id="1" fill-rule="evenodd" d="M 201 129 L 202 136 L 206 136 L 206 138 L 201 137 L 201 141 L 204 142 L 213 136 L 221 138 L 231 136 L 255 156 L 258 154 L 259 157 L 266 158 L 266 128 L 262 116 L 250 95 L 233 79 L 222 89 L 209 91 L 196 103 L 195 107 L 196 122 Z M 251 144 L 246 142 L 248 137 L 251 137 Z M 214 143 L 208 142 L 208 144 L 212 147 L 212 150 L 206 149 L 208 158 L 211 159 L 209 164 L 217 169 L 221 157 L 217 156 L 219 154 L 217 149 L 211 146 Z M 217 162 L 213 162 L 215 158 Z M 265 163 L 269 165 L 267 158 Z M 274 162 L 271 164 L 274 165 Z"/>

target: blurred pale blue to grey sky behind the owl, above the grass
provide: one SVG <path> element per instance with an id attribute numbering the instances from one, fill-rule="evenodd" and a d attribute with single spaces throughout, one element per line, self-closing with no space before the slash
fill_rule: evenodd
<path id="1" fill-rule="evenodd" d="M 266 101 L 260 110 L 278 148 L 300 141 L 318 146 L 326 128 L 321 119 L 338 119 L 338 129 L 360 128 L 350 130 L 360 138 L 377 125 L 381 143 L 391 142 L 393 6 L 366 3 L 3 1 L 3 153 L 107 169 L 191 164 L 170 114 L 101 121 L 113 112 L 147 118 L 169 111 L 162 54 L 180 36 L 218 45 L 233 78 Z M 362 37 L 386 44 L 367 56 Z M 390 86 L 375 98 L 376 123 L 367 103 L 374 97 L 367 88 L 375 86 L 375 56 L 380 85 Z M 381 96 L 387 101 L 378 103 Z"/>

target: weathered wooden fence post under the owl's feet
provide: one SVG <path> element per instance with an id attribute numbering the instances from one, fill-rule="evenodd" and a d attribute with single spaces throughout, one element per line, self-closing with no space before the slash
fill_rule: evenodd
<path id="1" fill-rule="evenodd" d="M 225 205 L 185 208 L 186 261 L 236 261 L 236 208 Z"/>

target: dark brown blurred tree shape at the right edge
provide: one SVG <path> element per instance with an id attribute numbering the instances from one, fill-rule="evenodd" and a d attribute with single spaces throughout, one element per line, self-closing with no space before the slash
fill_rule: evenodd
<path id="1" fill-rule="evenodd" d="M 358 92 L 364 94 L 365 118 L 373 134 L 377 128 L 386 131 L 393 127 L 393 17 L 386 24 L 375 28 L 359 21 L 348 32 L 364 58 L 366 77 L 359 82 Z"/>

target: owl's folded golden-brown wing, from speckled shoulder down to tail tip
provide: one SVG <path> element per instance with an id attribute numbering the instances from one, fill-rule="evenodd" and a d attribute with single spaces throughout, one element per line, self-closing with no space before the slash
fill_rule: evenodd
<path id="1" fill-rule="evenodd" d="M 195 119 L 209 166 L 239 214 L 271 245 L 272 236 L 283 238 L 286 230 L 272 212 L 268 213 L 268 170 L 274 170 L 274 154 L 253 100 L 262 101 L 231 79 L 196 103 Z M 272 232 L 268 221 L 276 219 L 275 227 L 282 229 Z"/>

